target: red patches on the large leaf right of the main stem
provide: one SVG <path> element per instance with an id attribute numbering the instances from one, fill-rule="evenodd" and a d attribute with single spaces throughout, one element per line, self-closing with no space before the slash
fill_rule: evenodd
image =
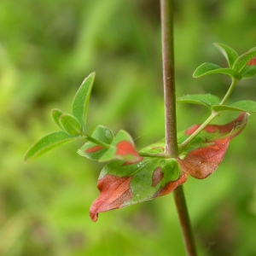
<path id="1" fill-rule="evenodd" d="M 196 148 L 187 154 L 184 160 L 177 159 L 180 167 L 183 172 L 188 173 L 192 177 L 196 178 L 206 178 L 212 172 L 214 172 L 220 162 L 224 158 L 224 154 L 226 153 L 230 140 L 233 137 L 236 137 L 244 128 L 244 126 L 237 130 L 235 133 L 231 133 L 233 129 L 240 125 L 246 124 L 247 114 L 241 113 L 241 115 L 226 125 L 207 125 L 204 131 L 208 133 L 213 133 L 218 131 L 220 134 L 230 133 L 230 135 L 221 137 L 214 141 L 206 141 L 206 147 Z M 200 125 L 195 125 L 187 130 L 186 134 L 192 134 Z"/>

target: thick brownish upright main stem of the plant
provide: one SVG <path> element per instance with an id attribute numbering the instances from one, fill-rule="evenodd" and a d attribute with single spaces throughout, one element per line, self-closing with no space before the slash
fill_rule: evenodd
<path id="1" fill-rule="evenodd" d="M 161 30 L 162 30 L 162 56 L 163 77 L 166 112 L 166 154 L 177 158 L 177 124 L 176 124 L 176 95 L 174 79 L 174 50 L 173 50 L 173 2 L 160 0 Z M 196 256 L 195 241 L 189 213 L 183 194 L 183 186 L 173 191 L 177 213 L 183 234 L 184 246 L 188 256 Z"/>

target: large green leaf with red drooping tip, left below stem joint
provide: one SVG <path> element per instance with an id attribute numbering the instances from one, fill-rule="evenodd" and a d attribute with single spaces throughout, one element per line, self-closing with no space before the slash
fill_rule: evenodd
<path id="1" fill-rule="evenodd" d="M 96 221 L 99 212 L 167 195 L 186 179 L 175 159 L 143 158 L 133 164 L 113 160 L 100 174 L 100 195 L 90 207 L 90 218 Z"/>

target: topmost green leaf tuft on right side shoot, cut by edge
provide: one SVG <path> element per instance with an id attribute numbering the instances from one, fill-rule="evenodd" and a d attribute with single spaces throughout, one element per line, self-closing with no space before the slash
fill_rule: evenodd
<path id="1" fill-rule="evenodd" d="M 230 76 L 232 79 L 250 79 L 256 75 L 256 67 L 253 65 L 247 65 L 250 60 L 256 56 L 256 48 L 250 49 L 243 55 L 238 55 L 235 49 L 225 44 L 214 44 L 217 49 L 224 55 L 229 63 L 229 68 L 219 67 L 212 63 L 203 63 L 200 67 L 195 69 L 193 73 L 194 78 L 200 78 L 214 73 L 222 73 Z"/>

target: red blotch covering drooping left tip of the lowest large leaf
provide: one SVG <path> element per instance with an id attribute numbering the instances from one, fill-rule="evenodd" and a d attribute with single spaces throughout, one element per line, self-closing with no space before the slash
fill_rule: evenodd
<path id="1" fill-rule="evenodd" d="M 99 212 L 106 212 L 123 206 L 133 197 L 130 189 L 132 177 L 106 175 L 97 183 L 100 195 L 90 207 L 90 218 L 97 221 Z"/>

